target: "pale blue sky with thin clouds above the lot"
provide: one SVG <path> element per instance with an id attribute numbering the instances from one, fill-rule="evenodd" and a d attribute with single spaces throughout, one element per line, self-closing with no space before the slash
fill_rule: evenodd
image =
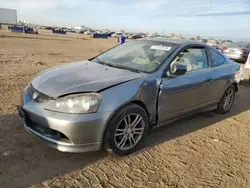
<path id="1" fill-rule="evenodd" d="M 0 8 L 39 24 L 250 39 L 250 0 L 0 0 Z"/>

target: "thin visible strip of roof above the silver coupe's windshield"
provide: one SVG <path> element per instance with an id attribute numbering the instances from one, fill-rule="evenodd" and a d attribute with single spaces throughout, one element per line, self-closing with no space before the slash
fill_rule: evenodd
<path id="1" fill-rule="evenodd" d="M 169 42 L 169 43 L 174 43 L 174 44 L 199 44 L 203 46 L 208 46 L 202 42 L 194 41 L 194 40 L 188 40 L 188 39 L 175 39 L 175 38 L 166 38 L 166 37 L 146 37 L 142 39 L 137 39 L 137 40 L 148 40 L 148 41 L 160 41 L 160 42 Z"/>

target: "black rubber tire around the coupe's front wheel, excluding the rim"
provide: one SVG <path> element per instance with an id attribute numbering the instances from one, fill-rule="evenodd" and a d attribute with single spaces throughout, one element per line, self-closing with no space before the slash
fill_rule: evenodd
<path id="1" fill-rule="evenodd" d="M 115 144 L 114 133 L 115 133 L 116 127 L 118 126 L 119 122 L 126 115 L 131 114 L 131 113 L 137 113 L 137 114 L 142 116 L 144 123 L 145 123 L 144 133 L 142 135 L 141 140 L 133 148 L 131 148 L 129 150 L 120 150 Z M 115 155 L 119 155 L 119 156 L 123 156 L 123 155 L 127 155 L 129 153 L 132 153 L 138 149 L 138 146 L 140 145 L 140 143 L 142 142 L 143 138 L 145 137 L 145 135 L 148 131 L 148 126 L 149 126 L 148 115 L 145 112 L 145 110 L 137 104 L 127 105 L 127 106 L 123 107 L 122 109 L 118 110 L 113 115 L 111 120 L 109 121 L 109 123 L 106 127 L 106 130 L 105 130 L 105 134 L 104 134 L 104 140 L 103 140 L 104 148 L 106 150 L 108 150 L 109 152 L 111 152 Z"/>

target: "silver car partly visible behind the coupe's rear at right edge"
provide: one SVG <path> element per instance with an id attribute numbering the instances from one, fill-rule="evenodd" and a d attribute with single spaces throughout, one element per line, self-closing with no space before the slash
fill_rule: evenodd
<path id="1" fill-rule="evenodd" d="M 250 52 L 250 43 L 233 42 L 224 47 L 222 52 L 232 60 L 245 63 Z"/>

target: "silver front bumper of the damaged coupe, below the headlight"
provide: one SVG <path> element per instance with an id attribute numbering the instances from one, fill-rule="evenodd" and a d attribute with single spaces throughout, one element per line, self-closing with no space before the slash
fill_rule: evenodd
<path id="1" fill-rule="evenodd" d="M 28 94 L 22 95 L 18 113 L 24 127 L 49 146 L 63 152 L 97 151 L 111 112 L 92 114 L 66 114 L 44 109 L 42 103 L 32 101 Z"/>

